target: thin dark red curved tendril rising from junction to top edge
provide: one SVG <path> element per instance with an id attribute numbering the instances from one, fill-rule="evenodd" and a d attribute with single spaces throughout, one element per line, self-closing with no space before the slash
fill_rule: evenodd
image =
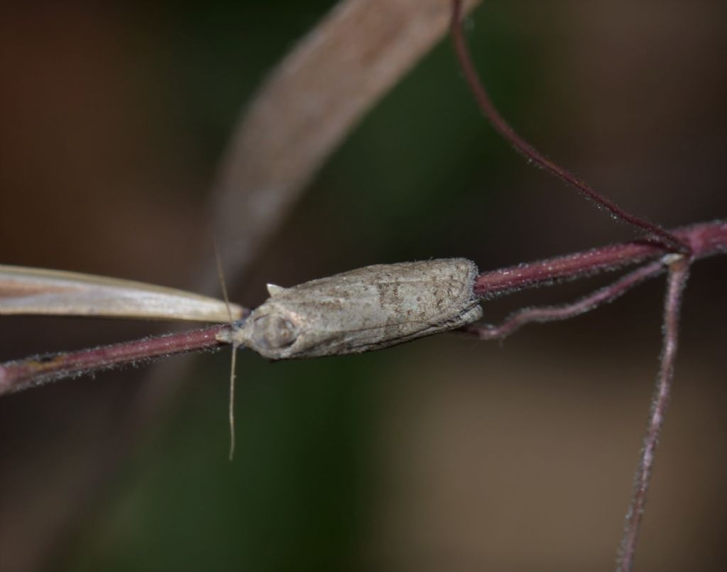
<path id="1" fill-rule="evenodd" d="M 529 160 L 533 161 L 535 164 L 547 169 L 547 171 L 554 174 L 556 177 L 575 187 L 591 201 L 603 206 L 603 208 L 613 214 L 614 217 L 622 219 L 628 224 L 633 225 L 640 230 L 644 230 L 646 233 L 654 235 L 655 240 L 662 246 L 662 249 L 690 254 L 689 245 L 680 240 L 678 236 L 675 236 L 659 225 L 655 225 L 653 222 L 648 222 L 648 220 L 636 217 L 617 206 L 610 199 L 601 195 L 601 193 L 598 193 L 598 191 L 588 185 L 587 182 L 579 179 L 579 177 L 576 177 L 576 175 L 567 169 L 563 169 L 563 167 L 555 164 L 553 161 L 550 161 L 549 158 L 540 153 L 539 150 L 534 148 L 529 142 L 524 140 L 517 132 L 515 132 L 515 129 L 513 129 L 513 127 L 505 121 L 505 118 L 499 114 L 497 108 L 495 108 L 492 100 L 490 99 L 487 90 L 480 81 L 478 73 L 475 70 L 475 65 L 470 57 L 469 50 L 467 49 L 467 44 L 465 43 L 461 20 L 462 0 L 452 0 L 451 35 L 452 40 L 454 41 L 454 51 L 457 54 L 459 65 L 462 67 L 462 71 L 465 74 L 467 83 L 470 85 L 470 89 L 475 96 L 475 100 L 477 100 L 478 105 L 494 129 L 497 130 L 497 132 L 502 135 L 506 141 L 509 141 L 516 150 L 526 156 L 526 158 L 529 158 Z"/>

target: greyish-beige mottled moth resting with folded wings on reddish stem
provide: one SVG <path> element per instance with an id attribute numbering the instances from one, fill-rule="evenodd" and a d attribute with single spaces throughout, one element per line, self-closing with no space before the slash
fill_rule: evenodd
<path id="1" fill-rule="evenodd" d="M 451 258 L 268 284 L 270 298 L 218 339 L 272 360 L 379 350 L 481 318 L 477 275 L 474 262 Z"/>

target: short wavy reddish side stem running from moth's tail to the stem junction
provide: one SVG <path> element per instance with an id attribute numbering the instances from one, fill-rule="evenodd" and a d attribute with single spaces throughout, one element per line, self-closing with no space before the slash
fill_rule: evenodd
<path id="1" fill-rule="evenodd" d="M 473 334 L 479 339 L 503 339 L 527 323 L 567 320 L 577 315 L 590 312 L 590 310 L 595 310 L 598 306 L 613 302 L 616 298 L 621 297 L 634 286 L 638 286 L 638 284 L 648 278 L 654 278 L 654 276 L 663 272 L 663 262 L 651 262 L 638 268 L 638 270 L 628 273 L 616 282 L 608 284 L 608 286 L 603 286 L 603 288 L 582 297 L 576 302 L 571 302 L 571 304 L 523 308 L 509 315 L 499 326 L 475 323 L 465 326 L 462 331 L 467 334 Z"/>

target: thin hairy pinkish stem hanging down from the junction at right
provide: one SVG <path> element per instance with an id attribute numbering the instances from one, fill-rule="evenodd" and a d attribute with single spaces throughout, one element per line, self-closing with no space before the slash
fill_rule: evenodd
<path id="1" fill-rule="evenodd" d="M 674 362 L 677 355 L 679 312 L 682 292 L 688 278 L 689 262 L 689 259 L 682 258 L 673 262 L 669 268 L 667 296 L 664 300 L 664 341 L 661 366 L 656 379 L 656 390 L 654 390 L 654 398 L 651 402 L 651 415 L 648 420 L 646 437 L 643 440 L 641 458 L 634 477 L 631 501 L 626 513 L 626 525 L 616 564 L 617 572 L 629 572 L 633 567 L 643 509 L 646 505 L 648 481 L 654 467 L 654 453 L 659 444 L 659 435 L 661 435 L 664 425 L 664 414 L 666 414 L 669 404 Z"/>

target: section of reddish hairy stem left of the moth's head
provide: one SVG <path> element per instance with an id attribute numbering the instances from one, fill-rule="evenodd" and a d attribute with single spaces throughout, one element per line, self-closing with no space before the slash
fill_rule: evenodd
<path id="1" fill-rule="evenodd" d="M 210 326 L 78 352 L 37 355 L 9 361 L 0 364 L 0 395 L 65 377 L 91 374 L 121 364 L 134 364 L 192 351 L 216 350 L 227 345 L 226 342 L 217 341 L 216 335 L 229 327 Z"/>

